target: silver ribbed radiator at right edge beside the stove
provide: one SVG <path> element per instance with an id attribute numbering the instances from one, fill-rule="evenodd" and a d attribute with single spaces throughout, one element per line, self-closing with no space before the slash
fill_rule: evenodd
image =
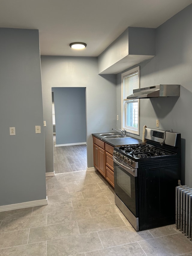
<path id="1" fill-rule="evenodd" d="M 192 188 L 186 185 L 176 187 L 176 229 L 191 240 L 192 233 Z"/>

